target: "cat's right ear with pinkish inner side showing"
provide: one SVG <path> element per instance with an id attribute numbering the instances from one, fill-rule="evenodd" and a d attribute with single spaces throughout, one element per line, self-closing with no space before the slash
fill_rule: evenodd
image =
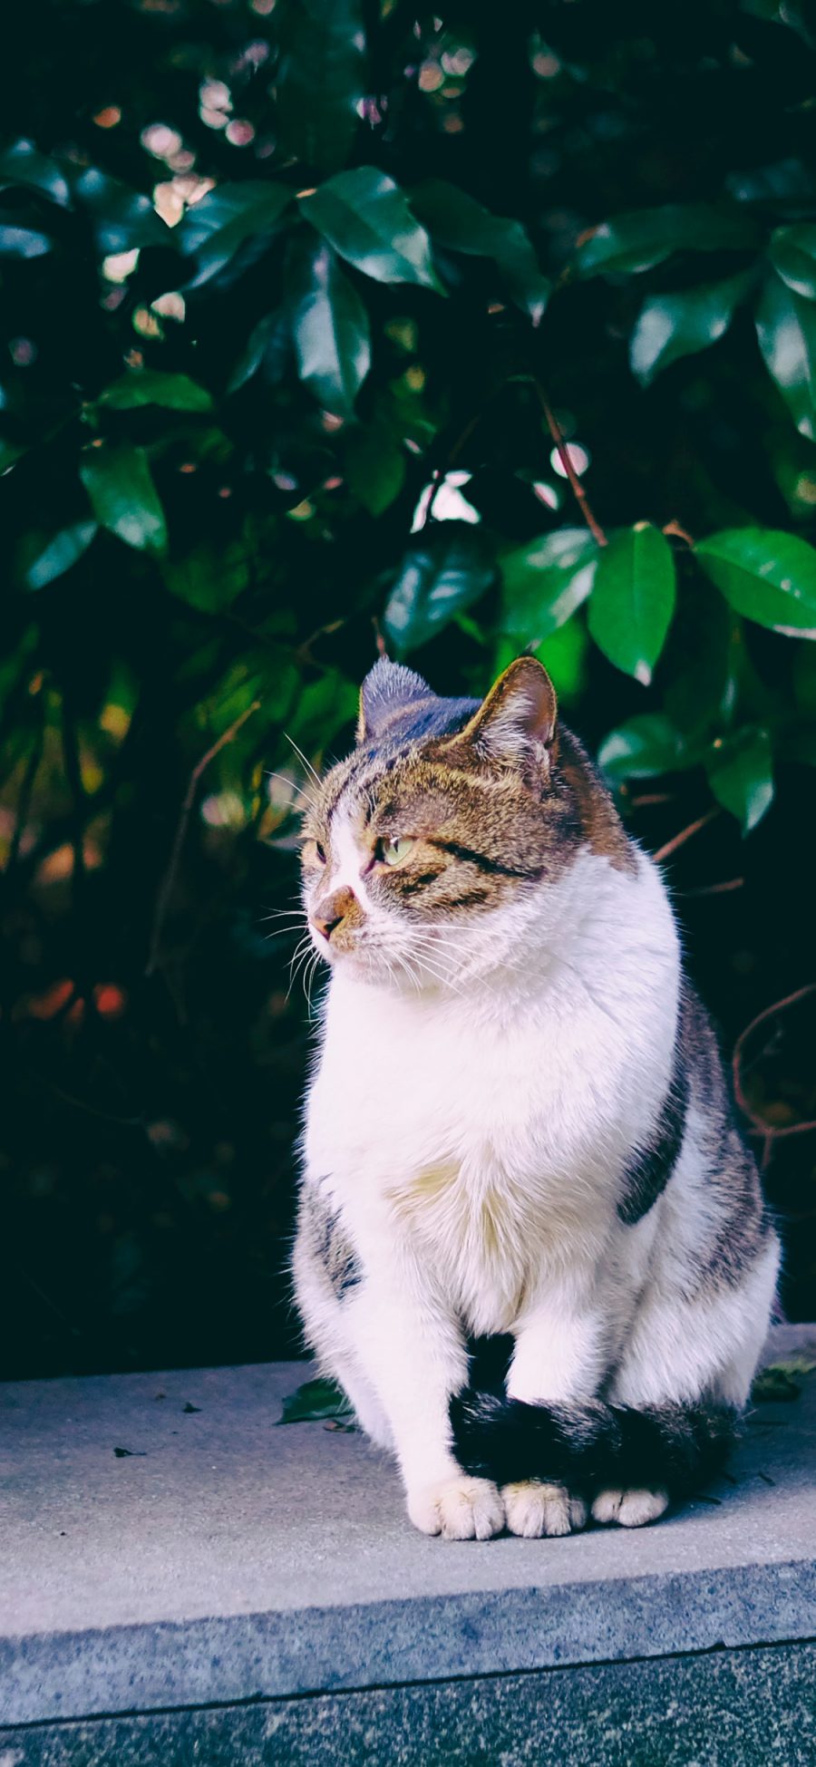
<path id="1" fill-rule="evenodd" d="M 466 742 L 486 760 L 549 767 L 558 705 L 542 663 L 516 657 L 454 742 Z"/>

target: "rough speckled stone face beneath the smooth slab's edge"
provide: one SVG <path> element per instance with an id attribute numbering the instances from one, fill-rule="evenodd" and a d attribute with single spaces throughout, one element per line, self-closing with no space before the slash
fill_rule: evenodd
<path id="1" fill-rule="evenodd" d="M 814 1767 L 816 1645 L 0 1733 L 0 1767 Z"/>

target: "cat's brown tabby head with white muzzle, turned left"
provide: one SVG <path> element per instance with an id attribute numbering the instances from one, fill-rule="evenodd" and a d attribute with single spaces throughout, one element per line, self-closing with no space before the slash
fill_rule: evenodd
<path id="1" fill-rule="evenodd" d="M 560 730 L 535 657 L 510 663 L 484 701 L 440 698 L 380 661 L 362 684 L 357 747 L 304 818 L 311 937 L 371 981 L 456 986 L 593 839 L 623 861 L 615 809 Z"/>

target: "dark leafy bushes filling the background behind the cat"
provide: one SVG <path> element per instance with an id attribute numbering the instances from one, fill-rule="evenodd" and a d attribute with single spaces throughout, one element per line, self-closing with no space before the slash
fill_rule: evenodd
<path id="1" fill-rule="evenodd" d="M 816 997 L 784 1004 L 816 979 L 807 9 L 12 14 L 2 1373 L 297 1346 L 313 1030 L 265 915 L 297 892 L 288 737 L 344 749 L 378 641 L 447 693 L 537 647 L 636 836 L 684 836 L 689 963 L 728 1048 L 747 1034 L 782 1299 L 812 1315 Z"/>

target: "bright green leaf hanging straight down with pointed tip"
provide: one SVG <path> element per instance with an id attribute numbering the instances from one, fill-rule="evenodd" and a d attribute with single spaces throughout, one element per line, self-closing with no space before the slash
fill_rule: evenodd
<path id="1" fill-rule="evenodd" d="M 675 560 L 659 528 L 638 521 L 615 534 L 599 553 L 590 601 L 590 633 L 625 675 L 643 686 L 666 641 L 675 613 Z"/>

